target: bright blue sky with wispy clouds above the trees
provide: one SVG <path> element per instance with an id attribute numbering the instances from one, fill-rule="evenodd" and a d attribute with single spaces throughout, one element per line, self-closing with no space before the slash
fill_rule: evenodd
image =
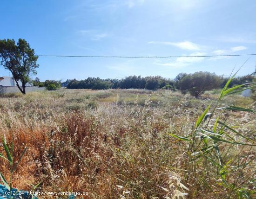
<path id="1" fill-rule="evenodd" d="M 0 10 L 0 39 L 26 39 L 40 55 L 256 53 L 255 0 L 2 0 Z M 40 57 L 34 78 L 229 75 L 247 58 Z M 239 75 L 255 71 L 255 65 L 251 56 Z M 0 75 L 9 71 L 0 66 Z"/>

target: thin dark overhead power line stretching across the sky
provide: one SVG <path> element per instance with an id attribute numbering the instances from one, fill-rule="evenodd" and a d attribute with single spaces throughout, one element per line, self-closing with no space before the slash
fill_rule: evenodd
<path id="1" fill-rule="evenodd" d="M 67 58 L 209 58 L 209 57 L 237 57 L 256 54 L 238 55 L 189 55 L 189 56 L 83 56 L 83 55 L 36 55 L 38 57 L 67 57 Z"/>

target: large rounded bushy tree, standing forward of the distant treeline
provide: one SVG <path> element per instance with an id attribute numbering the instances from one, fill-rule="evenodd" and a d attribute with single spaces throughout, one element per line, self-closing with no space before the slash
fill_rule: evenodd
<path id="1" fill-rule="evenodd" d="M 221 78 L 215 73 L 210 72 L 195 72 L 184 76 L 179 80 L 178 87 L 182 92 L 189 91 L 190 95 L 198 97 L 206 90 L 219 88 Z"/>

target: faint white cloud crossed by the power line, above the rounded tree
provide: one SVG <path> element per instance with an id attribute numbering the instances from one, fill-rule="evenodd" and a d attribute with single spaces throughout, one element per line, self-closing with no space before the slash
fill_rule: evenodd
<path id="1" fill-rule="evenodd" d="M 204 55 L 206 55 L 205 52 L 194 52 L 189 54 L 189 56 L 204 56 Z M 176 58 L 174 62 L 155 63 L 155 64 L 165 66 L 168 69 L 177 69 L 177 68 L 188 66 L 190 64 L 200 63 L 202 62 L 203 59 L 204 59 L 203 57 Z"/>

